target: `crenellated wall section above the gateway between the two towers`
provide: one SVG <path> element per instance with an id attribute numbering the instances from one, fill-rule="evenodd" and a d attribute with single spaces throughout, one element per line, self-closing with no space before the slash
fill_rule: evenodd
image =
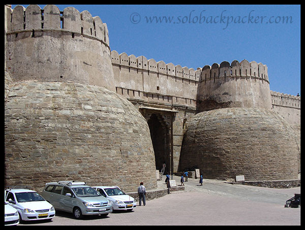
<path id="1" fill-rule="evenodd" d="M 196 107 L 200 70 L 111 51 L 117 93 L 149 103 Z"/>

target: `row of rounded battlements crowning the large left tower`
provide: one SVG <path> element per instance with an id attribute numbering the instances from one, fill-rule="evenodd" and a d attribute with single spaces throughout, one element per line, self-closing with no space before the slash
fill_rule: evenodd
<path id="1" fill-rule="evenodd" d="M 106 23 L 99 16 L 92 17 L 88 11 L 79 13 L 74 7 L 67 7 L 59 11 L 55 5 L 46 5 L 41 9 L 38 5 L 27 8 L 16 6 L 8 14 L 7 34 L 17 34 L 24 31 L 63 30 L 75 34 L 97 39 L 109 47 L 109 36 Z"/>

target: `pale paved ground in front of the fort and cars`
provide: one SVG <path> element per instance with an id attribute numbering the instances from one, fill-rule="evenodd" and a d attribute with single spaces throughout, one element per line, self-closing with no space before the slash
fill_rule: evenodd
<path id="1" fill-rule="evenodd" d="M 179 177 L 173 177 L 180 185 Z M 164 179 L 158 188 L 165 188 Z M 56 212 L 52 221 L 20 225 L 300 225 L 299 208 L 284 208 L 300 187 L 278 189 L 232 185 L 216 180 L 189 178 L 185 190 L 146 202 L 131 212 L 75 220 Z"/>

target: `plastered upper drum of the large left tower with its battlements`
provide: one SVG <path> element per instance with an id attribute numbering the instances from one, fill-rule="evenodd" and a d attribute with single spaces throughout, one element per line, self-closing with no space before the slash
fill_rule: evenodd
<path id="1" fill-rule="evenodd" d="M 6 69 L 14 81 L 76 82 L 115 91 L 106 23 L 55 5 L 6 7 Z"/>

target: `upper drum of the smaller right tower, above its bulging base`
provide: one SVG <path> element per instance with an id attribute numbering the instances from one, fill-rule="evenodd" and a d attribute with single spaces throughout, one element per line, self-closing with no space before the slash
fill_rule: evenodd
<path id="1" fill-rule="evenodd" d="M 223 61 L 202 68 L 197 109 L 228 107 L 271 109 L 267 66 L 256 61 Z"/>

